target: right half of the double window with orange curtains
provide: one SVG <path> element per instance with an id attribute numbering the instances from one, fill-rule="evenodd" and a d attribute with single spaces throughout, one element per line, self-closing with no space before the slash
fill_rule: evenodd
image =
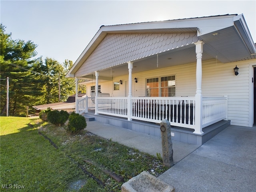
<path id="1" fill-rule="evenodd" d="M 161 97 L 175 97 L 175 76 L 161 77 Z"/>

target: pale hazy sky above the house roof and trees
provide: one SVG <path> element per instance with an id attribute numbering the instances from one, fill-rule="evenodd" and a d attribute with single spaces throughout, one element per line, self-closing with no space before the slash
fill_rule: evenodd
<path id="1" fill-rule="evenodd" d="M 60 63 L 75 62 L 102 25 L 225 14 L 244 14 L 256 42 L 256 0 L 0 0 L 6 33 Z"/>

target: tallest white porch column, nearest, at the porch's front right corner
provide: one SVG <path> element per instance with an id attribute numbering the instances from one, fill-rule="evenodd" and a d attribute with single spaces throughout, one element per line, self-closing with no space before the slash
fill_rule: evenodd
<path id="1" fill-rule="evenodd" d="M 196 106 L 195 106 L 195 131 L 196 134 L 203 134 L 202 132 L 202 53 L 203 42 L 196 42 Z"/>

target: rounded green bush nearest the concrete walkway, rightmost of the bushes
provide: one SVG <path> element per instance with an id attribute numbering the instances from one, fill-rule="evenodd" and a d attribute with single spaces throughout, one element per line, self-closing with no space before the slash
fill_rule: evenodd
<path id="1" fill-rule="evenodd" d="M 80 130 L 86 128 L 86 120 L 84 116 L 72 112 L 68 118 L 68 132 L 77 133 Z"/>

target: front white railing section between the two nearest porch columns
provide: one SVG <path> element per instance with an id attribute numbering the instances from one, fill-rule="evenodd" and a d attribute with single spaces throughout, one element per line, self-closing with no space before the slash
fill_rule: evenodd
<path id="1" fill-rule="evenodd" d="M 132 97 L 132 119 L 194 128 L 194 97 Z"/>

